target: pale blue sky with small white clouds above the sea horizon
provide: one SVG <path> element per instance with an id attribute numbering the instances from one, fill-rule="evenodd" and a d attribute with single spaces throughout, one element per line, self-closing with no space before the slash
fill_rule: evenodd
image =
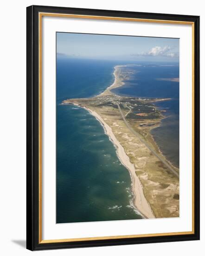
<path id="1" fill-rule="evenodd" d="M 179 61 L 179 39 L 122 35 L 57 33 L 62 58 Z"/>

